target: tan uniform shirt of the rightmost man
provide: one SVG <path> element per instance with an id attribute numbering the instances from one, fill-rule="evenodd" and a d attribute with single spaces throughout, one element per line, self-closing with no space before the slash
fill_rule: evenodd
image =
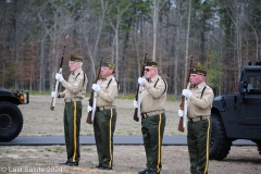
<path id="1" fill-rule="evenodd" d="M 202 98 L 201 94 L 203 91 Z M 189 119 L 199 117 L 199 116 L 207 116 L 211 114 L 212 102 L 214 98 L 214 94 L 212 88 L 210 88 L 206 83 L 201 83 L 197 85 L 192 89 L 192 95 L 188 99 L 188 113 L 187 116 Z M 201 99 L 200 99 L 201 98 Z"/>

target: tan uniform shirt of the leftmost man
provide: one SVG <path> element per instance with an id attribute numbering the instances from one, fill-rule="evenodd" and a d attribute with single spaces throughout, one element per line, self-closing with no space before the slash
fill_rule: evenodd
<path id="1" fill-rule="evenodd" d="M 71 73 L 67 82 L 62 82 L 62 86 L 65 88 L 65 90 L 60 94 L 60 97 L 65 99 L 84 99 L 87 83 L 87 76 L 84 74 L 80 67 L 77 69 L 75 72 Z"/>

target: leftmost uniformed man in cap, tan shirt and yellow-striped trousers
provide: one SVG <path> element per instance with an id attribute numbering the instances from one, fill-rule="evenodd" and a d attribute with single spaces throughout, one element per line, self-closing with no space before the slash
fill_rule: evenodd
<path id="1" fill-rule="evenodd" d="M 59 94 L 59 98 L 64 98 L 64 136 L 67 151 L 67 160 L 60 165 L 78 166 L 79 162 L 79 129 L 82 119 L 82 100 L 85 98 L 88 83 L 86 74 L 82 71 L 83 58 L 71 55 L 69 67 L 72 72 L 69 80 L 64 80 L 62 74 L 57 73 L 55 78 L 65 88 Z"/>

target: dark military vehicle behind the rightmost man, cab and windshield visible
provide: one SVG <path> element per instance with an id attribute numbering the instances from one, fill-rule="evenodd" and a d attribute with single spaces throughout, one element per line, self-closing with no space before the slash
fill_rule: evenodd
<path id="1" fill-rule="evenodd" d="M 234 140 L 257 144 L 261 154 L 261 63 L 243 67 L 236 94 L 217 96 L 211 110 L 210 160 L 227 157 Z"/>

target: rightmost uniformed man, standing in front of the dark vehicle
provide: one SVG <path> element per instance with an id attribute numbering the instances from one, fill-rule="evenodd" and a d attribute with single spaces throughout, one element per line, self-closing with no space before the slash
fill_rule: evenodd
<path id="1" fill-rule="evenodd" d="M 211 108 L 214 94 L 206 85 L 207 72 L 201 67 L 192 67 L 190 84 L 192 89 L 183 89 L 188 99 L 187 107 L 187 145 L 191 174 L 207 174 L 209 166 L 209 145 L 211 139 Z M 183 111 L 178 110 L 183 116 Z"/>

